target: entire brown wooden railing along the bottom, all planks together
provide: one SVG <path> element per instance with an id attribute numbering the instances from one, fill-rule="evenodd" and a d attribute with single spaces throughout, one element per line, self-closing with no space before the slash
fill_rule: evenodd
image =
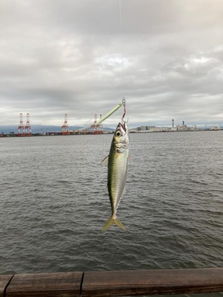
<path id="1" fill-rule="evenodd" d="M 103 297 L 223 292 L 223 268 L 0 275 L 0 297 Z"/>

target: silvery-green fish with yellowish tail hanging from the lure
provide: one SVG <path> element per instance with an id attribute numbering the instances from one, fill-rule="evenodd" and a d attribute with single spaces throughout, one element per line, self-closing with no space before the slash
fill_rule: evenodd
<path id="1" fill-rule="evenodd" d="M 116 224 L 125 230 L 117 219 L 116 211 L 125 190 L 129 158 L 129 136 L 126 121 L 118 123 L 111 141 L 109 155 L 101 162 L 101 166 L 108 166 L 108 192 L 111 203 L 111 217 L 103 227 L 103 231 Z"/>

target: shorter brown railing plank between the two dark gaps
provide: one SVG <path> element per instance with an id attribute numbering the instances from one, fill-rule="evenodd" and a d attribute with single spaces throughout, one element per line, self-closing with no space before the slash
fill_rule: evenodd
<path id="1" fill-rule="evenodd" d="M 6 289 L 6 297 L 79 297 L 82 275 L 82 272 L 16 274 Z"/>

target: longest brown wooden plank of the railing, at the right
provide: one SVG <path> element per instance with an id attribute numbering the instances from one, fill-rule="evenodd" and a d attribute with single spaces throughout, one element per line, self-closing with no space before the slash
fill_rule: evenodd
<path id="1" fill-rule="evenodd" d="M 223 292 L 223 268 L 85 272 L 82 297 Z"/>

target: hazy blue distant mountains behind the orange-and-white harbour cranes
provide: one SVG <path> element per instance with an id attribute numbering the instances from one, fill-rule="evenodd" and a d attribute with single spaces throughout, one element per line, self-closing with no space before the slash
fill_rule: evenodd
<path id="1" fill-rule="evenodd" d="M 45 125 L 32 125 L 32 133 L 47 133 L 47 132 L 61 132 L 61 126 L 45 126 Z M 69 126 L 69 130 L 78 130 L 82 129 L 82 126 Z M 103 128 L 104 131 L 114 131 L 112 128 Z M 10 132 L 14 132 L 15 134 L 18 132 L 18 126 L 9 125 L 9 126 L 0 126 L 0 134 L 8 134 Z"/>

